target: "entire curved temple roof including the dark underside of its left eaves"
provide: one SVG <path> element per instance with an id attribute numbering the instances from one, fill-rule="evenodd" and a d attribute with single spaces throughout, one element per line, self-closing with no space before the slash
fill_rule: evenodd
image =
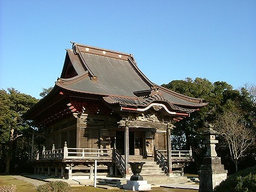
<path id="1" fill-rule="evenodd" d="M 76 100 L 75 107 L 67 106 Z M 82 102 L 94 100 L 109 113 L 156 110 L 181 119 L 207 104 L 151 82 L 131 54 L 73 43 L 52 91 L 23 116 L 43 123 L 55 121 L 59 116 L 83 112 Z"/>

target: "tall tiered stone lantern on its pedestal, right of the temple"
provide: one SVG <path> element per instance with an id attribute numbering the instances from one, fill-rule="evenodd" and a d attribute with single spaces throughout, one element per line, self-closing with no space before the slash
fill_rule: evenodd
<path id="1" fill-rule="evenodd" d="M 218 143 L 218 140 L 215 140 L 215 135 L 218 132 L 210 128 L 203 134 L 206 136 L 204 144 L 207 147 L 207 152 L 198 171 L 200 179 L 199 192 L 211 192 L 216 185 L 219 185 L 227 178 L 227 170 L 224 169 L 221 164 L 221 158 L 217 157 L 215 151 L 215 143 Z"/>

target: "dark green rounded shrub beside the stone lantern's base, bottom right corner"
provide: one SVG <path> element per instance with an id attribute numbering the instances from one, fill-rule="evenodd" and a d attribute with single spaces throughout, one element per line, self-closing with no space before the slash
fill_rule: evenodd
<path id="1" fill-rule="evenodd" d="M 256 191 L 256 166 L 228 176 L 213 190 L 214 192 L 254 192 Z"/>

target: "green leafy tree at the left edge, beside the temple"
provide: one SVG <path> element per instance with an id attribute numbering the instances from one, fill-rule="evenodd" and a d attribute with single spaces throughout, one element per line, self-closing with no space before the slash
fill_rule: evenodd
<path id="1" fill-rule="evenodd" d="M 15 154 L 14 146 L 17 146 L 17 141 L 29 128 L 21 116 L 37 101 L 36 98 L 22 94 L 14 88 L 0 90 L 0 158 L 1 162 L 5 162 L 5 173 L 10 172 L 11 158 Z M 26 143 L 23 143 L 24 145 Z"/>

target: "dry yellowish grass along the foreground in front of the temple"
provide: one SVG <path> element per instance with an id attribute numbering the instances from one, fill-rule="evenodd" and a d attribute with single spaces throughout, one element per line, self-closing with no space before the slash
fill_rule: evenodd
<path id="1" fill-rule="evenodd" d="M 1 185 L 11 185 L 14 184 L 17 187 L 16 191 L 19 192 L 36 192 L 36 188 L 34 185 L 21 181 L 19 179 L 13 178 L 10 175 L 0 175 L 0 186 Z M 123 192 L 123 191 L 130 191 L 130 190 L 123 190 L 123 189 L 111 189 L 107 190 L 104 188 L 99 188 L 99 187 L 72 187 L 72 190 L 70 192 L 82 192 L 82 191 L 87 191 L 87 192 Z M 176 188 L 152 188 L 150 192 L 196 192 L 197 190 L 183 190 L 183 189 L 176 189 Z"/>

